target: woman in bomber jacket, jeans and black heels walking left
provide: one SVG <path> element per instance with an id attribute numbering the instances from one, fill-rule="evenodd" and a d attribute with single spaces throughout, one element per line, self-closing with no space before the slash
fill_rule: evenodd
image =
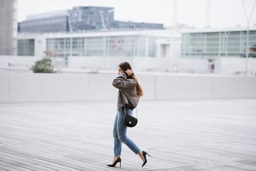
<path id="1" fill-rule="evenodd" d="M 127 126 L 123 124 L 124 108 L 127 114 L 132 115 L 132 111 L 136 108 L 139 97 L 143 96 L 143 90 L 139 85 L 137 77 L 132 71 L 132 67 L 128 62 L 122 62 L 118 66 L 118 77 L 113 80 L 114 87 L 119 89 L 118 101 L 117 101 L 117 116 L 115 116 L 113 136 L 114 136 L 114 159 L 112 164 L 108 164 L 109 167 L 115 167 L 117 163 L 120 163 L 121 167 L 121 150 L 122 143 L 126 144 L 135 154 L 141 157 L 143 164 L 147 163 L 147 152 L 141 151 L 131 139 L 126 136 Z M 149 155 L 149 154 L 148 154 Z M 150 156 L 150 155 L 149 155 Z M 150 156 L 151 157 L 151 156 Z"/>

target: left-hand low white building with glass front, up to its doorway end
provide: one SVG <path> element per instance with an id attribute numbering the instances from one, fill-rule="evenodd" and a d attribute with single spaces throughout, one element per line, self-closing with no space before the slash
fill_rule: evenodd
<path id="1" fill-rule="evenodd" d="M 64 58 L 178 56 L 181 40 L 180 34 L 165 30 L 20 34 L 18 37 L 18 55 Z"/>

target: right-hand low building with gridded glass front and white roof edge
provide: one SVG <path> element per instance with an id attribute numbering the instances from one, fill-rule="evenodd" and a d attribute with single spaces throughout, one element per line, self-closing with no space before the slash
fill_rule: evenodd
<path id="1" fill-rule="evenodd" d="M 247 29 L 204 29 L 182 32 L 181 57 L 245 57 Z M 256 27 L 249 30 L 249 56 L 256 57 Z"/>

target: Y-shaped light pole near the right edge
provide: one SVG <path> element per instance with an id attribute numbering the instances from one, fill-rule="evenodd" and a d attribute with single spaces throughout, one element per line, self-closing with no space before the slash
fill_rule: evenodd
<path id="1" fill-rule="evenodd" d="M 255 7 L 255 4 L 256 4 L 256 0 L 254 0 L 254 4 L 253 4 L 253 9 L 252 11 L 250 12 L 250 16 L 248 18 L 247 16 L 247 12 L 246 12 L 246 9 L 245 9 L 245 6 L 244 6 L 244 1 L 245 0 L 241 0 L 242 3 L 243 3 L 243 7 L 244 7 L 244 13 L 245 13 L 245 17 L 247 19 L 247 38 L 246 38 L 246 64 L 245 64 L 245 75 L 248 75 L 248 56 L 249 56 L 249 23 L 250 23 L 250 19 L 252 18 L 252 14 L 253 14 L 253 10 L 254 10 L 254 7 Z"/>

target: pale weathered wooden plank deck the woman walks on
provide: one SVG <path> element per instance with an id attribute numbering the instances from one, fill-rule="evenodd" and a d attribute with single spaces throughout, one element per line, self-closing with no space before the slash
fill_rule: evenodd
<path id="1" fill-rule="evenodd" d="M 141 101 L 112 162 L 116 102 L 0 104 L 0 170 L 256 170 L 256 99 Z M 134 113 L 135 114 L 135 113 Z"/>

